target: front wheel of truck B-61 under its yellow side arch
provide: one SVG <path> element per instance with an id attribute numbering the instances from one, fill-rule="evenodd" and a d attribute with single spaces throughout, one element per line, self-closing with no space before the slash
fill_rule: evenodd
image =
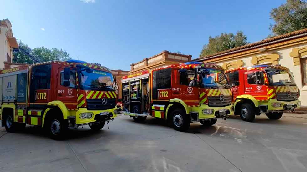
<path id="1" fill-rule="evenodd" d="M 55 116 L 50 117 L 48 121 L 47 130 L 51 139 L 54 140 L 63 140 L 66 136 L 68 130 L 68 122 L 65 121 L 62 117 Z"/>

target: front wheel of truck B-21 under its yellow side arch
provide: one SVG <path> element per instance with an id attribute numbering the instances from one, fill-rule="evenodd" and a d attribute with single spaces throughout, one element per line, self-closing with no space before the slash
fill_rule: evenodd
<path id="1" fill-rule="evenodd" d="M 173 128 L 177 131 L 186 131 L 190 128 L 191 118 L 182 109 L 171 112 Z"/>

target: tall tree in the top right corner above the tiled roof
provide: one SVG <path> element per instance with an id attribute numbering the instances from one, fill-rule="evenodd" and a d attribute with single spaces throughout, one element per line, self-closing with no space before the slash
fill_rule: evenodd
<path id="1" fill-rule="evenodd" d="M 270 18 L 275 21 L 274 25 L 270 24 L 273 36 L 307 28 L 307 2 L 287 0 L 271 10 Z"/>

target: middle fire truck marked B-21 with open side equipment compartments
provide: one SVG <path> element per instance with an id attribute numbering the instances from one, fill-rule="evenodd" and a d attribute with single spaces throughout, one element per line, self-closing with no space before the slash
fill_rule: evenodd
<path id="1" fill-rule="evenodd" d="M 173 64 L 122 78 L 124 114 L 137 122 L 152 116 L 178 131 L 192 122 L 209 126 L 233 114 L 231 102 L 226 73 L 213 63 Z"/>

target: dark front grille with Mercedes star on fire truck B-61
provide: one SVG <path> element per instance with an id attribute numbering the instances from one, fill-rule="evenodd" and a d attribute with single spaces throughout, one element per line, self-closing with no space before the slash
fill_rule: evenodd
<path id="1" fill-rule="evenodd" d="M 102 99 L 86 99 L 88 110 L 107 110 L 115 108 L 116 99 L 107 99 L 107 104 L 102 104 Z"/>

